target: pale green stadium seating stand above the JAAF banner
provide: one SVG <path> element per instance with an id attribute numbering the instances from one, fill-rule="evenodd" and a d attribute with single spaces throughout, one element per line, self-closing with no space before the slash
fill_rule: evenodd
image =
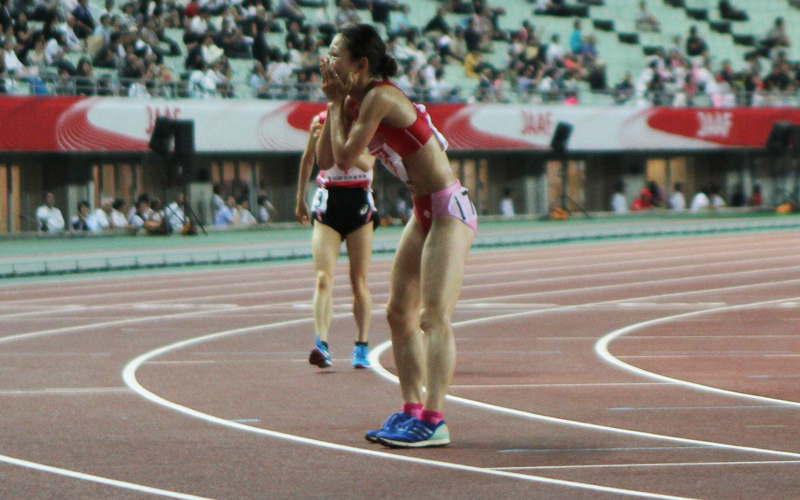
<path id="1" fill-rule="evenodd" d="M 124 48 L 115 49 L 116 62 L 110 67 L 101 68 L 95 65 L 94 75 L 90 78 L 97 80 L 98 84 L 93 85 L 88 93 L 165 98 L 229 96 L 319 99 L 319 92 L 307 92 L 304 87 L 318 85 L 313 70 L 298 68 L 303 62 L 314 61 L 324 55 L 327 46 L 309 41 L 306 47 L 309 50 L 306 52 L 287 46 L 287 23 L 285 18 L 280 17 L 284 2 L 289 0 L 244 0 L 239 3 L 210 0 L 200 4 L 192 1 L 185 5 L 173 0 L 158 3 L 140 0 L 133 2 L 132 9 L 127 9 L 127 12 L 127 4 L 116 5 L 110 13 L 119 18 L 114 29 L 120 33 Z M 355 3 L 356 12 L 363 22 L 372 22 L 373 13 L 368 7 L 373 2 L 391 8 L 388 22 L 381 29 L 385 32 L 392 31 L 401 15 L 400 4 L 393 3 L 394 0 L 359 0 Z M 27 67 L 9 67 L 9 57 L 4 54 L 0 93 L 80 93 L 80 82 L 77 85 L 75 82 L 69 83 L 67 77 L 76 79 L 80 76 L 75 73 L 78 63 L 82 58 L 95 58 L 96 53 L 90 52 L 86 47 L 92 46 L 96 49 L 96 44 L 83 41 L 80 50 L 70 51 L 61 43 L 46 39 L 45 52 L 52 54 L 46 59 L 55 60 L 36 64 L 28 63 L 27 59 L 29 53 L 35 50 L 34 40 L 40 36 L 39 33 L 45 38 L 53 36 L 52 30 L 48 31 L 48 19 L 57 18 L 59 29 L 70 34 L 72 30 L 69 25 L 72 21 L 69 18 L 77 5 L 75 0 L 53 0 L 49 5 L 34 4 L 29 0 L 8 0 L 8 3 L 17 23 L 20 22 L 17 18 L 19 11 L 28 15 L 31 35 L 23 42 L 15 39 L 16 31 L 13 27 L 4 33 L 6 51 L 14 51 Z M 322 2 L 322 5 L 325 3 Z M 730 104 L 733 101 L 721 99 L 717 102 L 712 94 L 737 91 L 763 93 L 766 96 L 759 98 L 757 95 L 756 98 L 737 100 L 739 103 L 786 103 L 787 99 L 792 99 L 800 78 L 800 67 L 793 62 L 800 59 L 797 40 L 790 39 L 788 45 L 778 47 L 765 46 L 763 40 L 778 18 L 782 18 L 788 26 L 795 26 L 800 21 L 798 2 L 730 2 L 735 9 L 746 14 L 746 20 L 723 17 L 720 3 L 717 0 L 648 0 L 646 11 L 657 20 L 657 29 L 644 29 L 640 10 L 640 5 L 644 2 L 640 4 L 640 0 L 562 0 L 559 8 L 568 9 L 566 12 L 574 15 L 564 15 L 564 11 L 552 11 L 555 15 L 543 14 L 539 2 L 528 0 L 409 1 L 410 8 L 406 15 L 410 25 L 415 28 L 413 31 L 416 32 L 416 38 L 412 38 L 412 46 L 409 47 L 405 43 L 408 37 L 398 36 L 398 49 L 395 53 L 405 61 L 406 70 L 401 84 L 407 91 L 415 93 L 415 97 L 424 100 L 553 102 L 573 96 L 582 103 L 624 103 L 652 100 L 652 96 L 663 92 L 669 97 L 659 100 L 659 104 L 702 103 L 706 101 L 694 100 L 692 96 L 705 93 L 711 99 L 710 102 L 723 105 L 724 102 Z M 442 6 L 449 7 L 444 20 L 451 28 L 450 32 L 422 33 L 422 29 Z M 105 5 L 101 0 L 91 0 L 89 3 L 89 10 L 95 21 L 100 19 L 104 9 Z M 309 40 L 324 38 L 324 30 L 320 29 L 323 19 L 327 16 L 328 20 L 335 21 L 337 9 L 332 3 L 325 7 L 320 7 L 320 3 L 314 3 L 313 0 L 301 3 L 299 12 L 304 16 L 304 37 Z M 193 49 L 197 42 L 187 36 L 190 18 L 203 10 L 211 12 L 210 20 L 217 32 L 225 18 L 230 19 L 244 32 L 248 40 L 247 57 L 233 57 L 228 53 L 227 57 L 219 58 L 213 55 L 213 50 Z M 127 17 L 131 11 L 134 12 L 133 17 Z M 485 15 L 481 16 L 482 13 Z M 170 20 L 179 19 L 182 24 L 169 24 Z M 471 19 L 475 28 L 470 25 Z M 588 55 L 570 55 L 569 45 L 576 19 L 582 20 L 581 35 L 584 42 L 589 37 L 596 41 L 592 49 L 596 50 L 596 56 L 591 50 Z M 150 24 L 150 20 L 154 20 L 154 23 Z M 520 30 L 523 30 L 523 21 L 528 21 L 533 26 L 532 32 L 527 35 L 528 38 L 534 37 L 538 44 L 532 47 L 526 47 L 526 41 L 518 37 Z M 177 42 L 180 54 L 175 53 L 163 40 L 156 41 L 157 28 L 162 25 L 166 26 L 163 36 Z M 672 58 L 670 51 L 685 51 L 692 27 L 695 27 L 706 44 L 705 59 L 693 58 L 686 64 L 679 64 L 680 59 Z M 262 32 L 265 33 L 264 41 L 269 52 L 261 60 L 267 70 L 268 85 L 273 87 L 271 91 L 251 88 L 256 54 L 252 43 Z M 548 54 L 553 44 L 553 35 L 558 35 L 559 44 L 565 53 L 551 58 Z M 470 80 L 465 78 L 461 59 L 467 55 L 467 48 L 473 39 L 479 40 L 482 54 L 477 67 L 479 77 Z M 222 42 L 216 39 L 214 43 L 219 45 Z M 449 46 L 449 54 L 455 57 L 444 57 L 439 67 L 439 64 L 429 61 L 432 55 L 443 54 L 443 45 Z M 584 44 L 584 49 L 585 47 Z M 62 50 L 63 55 L 59 55 L 58 52 Z M 530 56 L 537 51 L 537 56 L 524 63 L 520 62 L 521 53 Z M 138 54 L 144 61 L 137 66 L 138 70 L 123 69 L 126 53 Z M 203 56 L 210 68 L 195 68 L 198 54 Z M 290 55 L 288 62 L 294 68 L 294 72 L 288 76 L 283 74 L 280 64 L 286 54 Z M 661 58 L 662 62 L 658 66 L 662 68 L 662 81 L 655 81 L 659 78 L 654 80 L 648 73 L 654 57 Z M 721 77 L 720 70 L 726 60 L 731 62 L 733 72 L 730 77 L 727 73 Z M 773 66 L 781 66 L 776 72 L 780 75 L 771 75 Z M 704 72 L 704 67 L 708 67 L 708 73 Z M 302 78 L 298 76 L 300 74 Z M 435 76 L 437 74 L 439 76 Z M 634 94 L 638 95 L 638 99 L 620 97 L 627 95 L 621 94 L 619 84 L 628 74 L 638 85 Z M 691 77 L 691 82 L 686 79 L 687 75 Z M 305 76 L 308 76 L 307 84 L 304 83 Z M 100 85 L 103 80 L 108 82 L 108 90 Z M 722 90 L 718 84 L 722 84 Z M 434 91 L 434 85 L 438 85 L 437 88 L 452 87 L 456 90 Z M 234 90 L 226 90 L 230 88 Z M 781 93 L 780 99 L 770 97 L 776 92 Z M 678 95 L 684 97 L 677 99 L 675 96 Z"/>

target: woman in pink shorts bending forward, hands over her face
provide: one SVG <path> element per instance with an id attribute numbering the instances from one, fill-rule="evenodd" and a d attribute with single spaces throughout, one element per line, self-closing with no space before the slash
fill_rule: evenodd
<path id="1" fill-rule="evenodd" d="M 425 107 L 388 81 L 397 69 L 375 28 L 339 30 L 320 65 L 330 127 L 330 134 L 320 136 L 320 148 L 330 141 L 333 161 L 342 169 L 357 165 L 367 149 L 406 183 L 414 202 L 395 254 L 387 305 L 403 406 L 366 438 L 390 447 L 444 446 L 450 433 L 442 411 L 456 362 L 451 318 L 477 213 Z"/>

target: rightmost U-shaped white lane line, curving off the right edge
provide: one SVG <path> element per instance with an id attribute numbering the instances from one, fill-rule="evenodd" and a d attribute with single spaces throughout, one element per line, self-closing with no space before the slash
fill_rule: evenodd
<path id="1" fill-rule="evenodd" d="M 669 383 L 672 383 L 672 384 L 678 384 L 680 386 L 683 386 L 683 387 L 686 387 L 686 388 L 689 388 L 689 389 L 693 389 L 693 390 L 696 390 L 696 391 L 710 392 L 710 393 L 713 393 L 713 394 L 720 394 L 720 395 L 723 395 L 723 396 L 732 396 L 732 397 L 735 397 L 735 398 L 749 399 L 749 400 L 760 401 L 760 402 L 764 402 L 764 403 L 777 404 L 777 405 L 782 405 L 782 406 L 789 406 L 789 407 L 793 407 L 793 408 L 800 408 L 800 402 L 797 402 L 797 401 L 787 401 L 787 400 L 783 400 L 783 399 L 769 398 L 769 397 L 766 397 L 766 396 L 756 396 L 754 394 L 745 394 L 745 393 L 742 393 L 742 392 L 729 391 L 729 390 L 726 390 L 726 389 L 719 389 L 717 387 L 711 387 L 711 386 L 707 386 L 707 385 L 696 384 L 694 382 L 689 382 L 689 381 L 686 381 L 686 380 L 680 380 L 680 379 L 677 379 L 677 378 L 674 378 L 674 377 L 667 377 L 665 375 L 661 375 L 661 374 L 658 374 L 658 373 L 647 371 L 647 370 L 644 370 L 644 369 L 639 368 L 637 366 L 633 366 L 633 365 L 630 365 L 628 363 L 625 363 L 624 361 L 621 361 L 618 357 L 612 355 L 608 350 L 609 344 L 611 344 L 611 342 L 613 342 L 614 340 L 616 340 L 616 339 L 618 339 L 620 337 L 623 337 L 623 336 L 627 335 L 628 333 L 635 332 L 635 331 L 638 331 L 638 330 L 641 330 L 641 329 L 644 329 L 644 328 L 648 328 L 648 327 L 651 327 L 651 326 L 663 325 L 663 324 L 671 323 L 671 322 L 674 322 L 674 321 L 677 321 L 677 320 L 682 320 L 682 319 L 686 319 L 686 318 L 692 318 L 692 317 L 706 315 L 706 314 L 718 314 L 718 313 L 723 313 L 723 312 L 728 312 L 728 311 L 737 311 L 737 310 L 741 310 L 741 309 L 752 309 L 752 308 L 757 308 L 757 307 L 764 307 L 765 305 L 778 304 L 778 303 L 786 302 L 787 300 L 797 300 L 797 299 L 798 299 L 798 297 L 793 297 L 791 299 L 766 300 L 766 301 L 763 301 L 763 302 L 752 302 L 752 303 L 749 303 L 749 304 L 740 304 L 740 305 L 735 305 L 735 306 L 719 307 L 719 308 L 715 308 L 715 309 L 709 309 L 709 310 L 706 310 L 706 311 L 694 311 L 694 312 L 689 312 L 689 313 L 676 314 L 674 316 L 664 316 L 662 318 L 656 318 L 656 319 L 652 319 L 652 320 L 649 320 L 649 321 L 642 321 L 641 323 L 628 325 L 628 326 L 626 326 L 624 328 L 620 328 L 618 330 L 614 330 L 613 332 L 604 335 L 595 344 L 594 351 L 595 351 L 595 354 L 597 354 L 597 356 L 600 357 L 600 359 L 602 359 L 603 361 L 607 362 L 608 364 L 610 364 L 612 366 L 615 366 L 615 367 L 617 367 L 617 368 L 619 368 L 619 369 L 621 369 L 623 371 L 632 373 L 634 375 L 639 375 L 639 376 L 642 376 L 642 377 L 645 377 L 645 378 L 648 378 L 648 379 L 651 379 L 651 380 L 657 380 L 657 381 L 660 381 L 660 382 L 669 382 Z"/>

